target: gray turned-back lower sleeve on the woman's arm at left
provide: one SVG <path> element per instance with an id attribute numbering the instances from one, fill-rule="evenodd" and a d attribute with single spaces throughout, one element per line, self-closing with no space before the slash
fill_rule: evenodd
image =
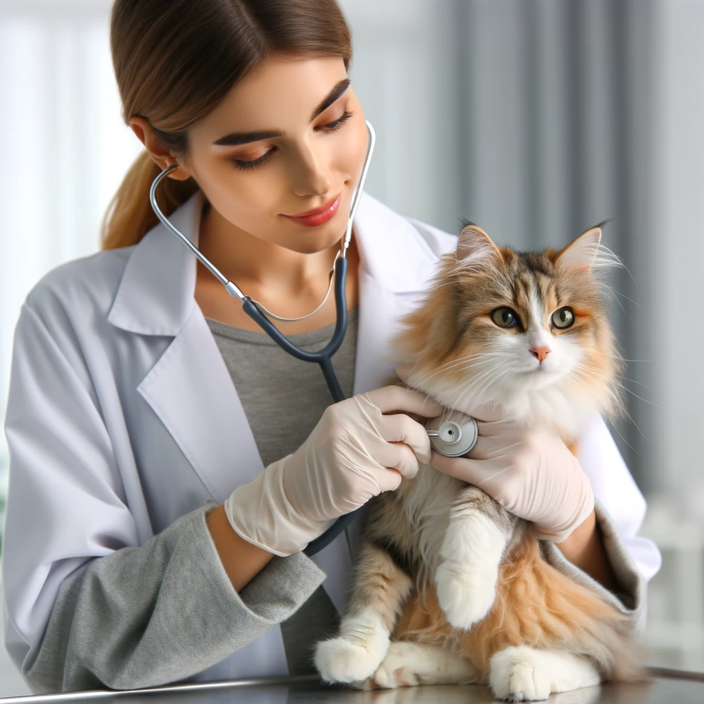
<path id="1" fill-rule="evenodd" d="M 188 679 L 287 619 L 325 579 L 303 553 L 275 556 L 238 593 L 206 524 L 215 506 L 65 577 L 37 657 L 23 667 L 33 691 Z"/>

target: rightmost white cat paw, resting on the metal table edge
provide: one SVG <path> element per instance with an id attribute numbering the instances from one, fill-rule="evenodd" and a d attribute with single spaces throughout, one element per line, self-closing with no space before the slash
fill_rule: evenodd
<path id="1" fill-rule="evenodd" d="M 539 650 L 517 646 L 491 658 L 489 686 L 497 699 L 510 702 L 547 699 L 551 672 Z"/>

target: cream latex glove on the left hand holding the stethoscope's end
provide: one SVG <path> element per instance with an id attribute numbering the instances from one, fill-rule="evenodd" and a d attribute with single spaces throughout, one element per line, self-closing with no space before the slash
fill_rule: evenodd
<path id="1" fill-rule="evenodd" d="M 330 520 L 415 476 L 419 459 L 429 463 L 430 440 L 419 422 L 395 411 L 433 417 L 442 407 L 403 386 L 328 406 L 296 452 L 227 498 L 234 531 L 275 555 L 290 555 L 322 534 Z"/>

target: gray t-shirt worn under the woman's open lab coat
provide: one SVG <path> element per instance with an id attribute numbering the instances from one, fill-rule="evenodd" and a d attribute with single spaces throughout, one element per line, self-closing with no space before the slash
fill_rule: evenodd
<path id="1" fill-rule="evenodd" d="M 327 406 L 333 403 L 320 365 L 284 352 L 265 332 L 244 330 L 206 318 L 251 426 L 266 467 L 303 444 Z M 335 325 L 289 335 L 296 346 L 319 350 Z M 348 313 L 347 332 L 332 357 L 332 367 L 346 397 L 352 395 L 357 346 L 357 308 Z M 313 646 L 337 634 L 339 614 L 319 586 L 281 624 L 289 674 L 313 674 Z"/>

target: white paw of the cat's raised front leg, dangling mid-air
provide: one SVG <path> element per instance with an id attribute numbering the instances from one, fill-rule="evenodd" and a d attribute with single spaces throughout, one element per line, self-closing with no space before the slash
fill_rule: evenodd
<path id="1" fill-rule="evenodd" d="M 441 562 L 435 572 L 435 586 L 440 608 L 455 628 L 469 629 L 481 621 L 496 598 L 498 570 L 460 565 L 453 560 Z"/>

